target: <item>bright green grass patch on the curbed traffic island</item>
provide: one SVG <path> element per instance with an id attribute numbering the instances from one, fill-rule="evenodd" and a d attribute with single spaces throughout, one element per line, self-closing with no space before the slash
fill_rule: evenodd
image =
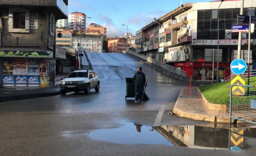
<path id="1" fill-rule="evenodd" d="M 245 79 L 247 85 L 247 79 Z M 250 85 L 256 85 L 256 76 L 250 77 Z M 212 104 L 230 104 L 230 81 L 202 85 L 199 87 L 205 98 Z"/>

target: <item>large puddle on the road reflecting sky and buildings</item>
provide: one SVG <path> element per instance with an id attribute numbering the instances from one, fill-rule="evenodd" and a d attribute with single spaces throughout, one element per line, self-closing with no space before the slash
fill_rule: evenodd
<path id="1" fill-rule="evenodd" d="M 123 123 L 119 128 L 100 129 L 87 135 L 94 140 L 119 144 L 163 144 L 189 148 L 244 150 L 247 138 L 256 138 L 256 128 L 207 126 L 154 126 Z"/>

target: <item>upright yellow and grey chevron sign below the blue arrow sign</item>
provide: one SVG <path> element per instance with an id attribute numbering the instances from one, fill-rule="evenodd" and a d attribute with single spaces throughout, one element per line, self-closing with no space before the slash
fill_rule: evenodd
<path id="1" fill-rule="evenodd" d="M 245 85 L 245 75 L 231 75 L 231 85 L 238 84 L 238 85 Z M 233 95 L 244 95 L 245 94 L 245 87 L 232 87 L 232 94 Z"/>

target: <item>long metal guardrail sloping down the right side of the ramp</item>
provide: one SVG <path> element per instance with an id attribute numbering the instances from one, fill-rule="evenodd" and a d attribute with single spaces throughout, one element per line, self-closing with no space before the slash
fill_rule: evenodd
<path id="1" fill-rule="evenodd" d="M 173 66 L 170 66 L 168 64 L 162 63 L 160 61 L 157 61 L 155 59 L 152 59 L 148 56 L 145 55 L 141 55 L 137 52 L 131 51 L 131 50 L 126 50 L 127 53 L 134 55 L 138 58 L 141 58 L 143 60 L 145 60 L 146 62 L 149 62 L 151 64 L 156 65 L 157 67 L 160 67 L 162 70 L 161 72 L 164 73 L 167 76 L 170 76 L 174 79 L 178 79 L 178 80 L 185 80 L 185 81 L 189 81 L 189 79 L 186 76 L 186 71 L 183 71 L 181 69 L 177 69 Z"/>

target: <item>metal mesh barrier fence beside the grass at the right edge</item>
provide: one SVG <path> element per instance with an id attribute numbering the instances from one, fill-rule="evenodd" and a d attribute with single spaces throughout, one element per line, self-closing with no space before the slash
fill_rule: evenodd
<path id="1" fill-rule="evenodd" d="M 235 95 L 236 90 L 244 90 L 244 96 Z M 231 119 L 256 124 L 256 87 L 232 85 L 230 87 L 230 124 Z"/>

